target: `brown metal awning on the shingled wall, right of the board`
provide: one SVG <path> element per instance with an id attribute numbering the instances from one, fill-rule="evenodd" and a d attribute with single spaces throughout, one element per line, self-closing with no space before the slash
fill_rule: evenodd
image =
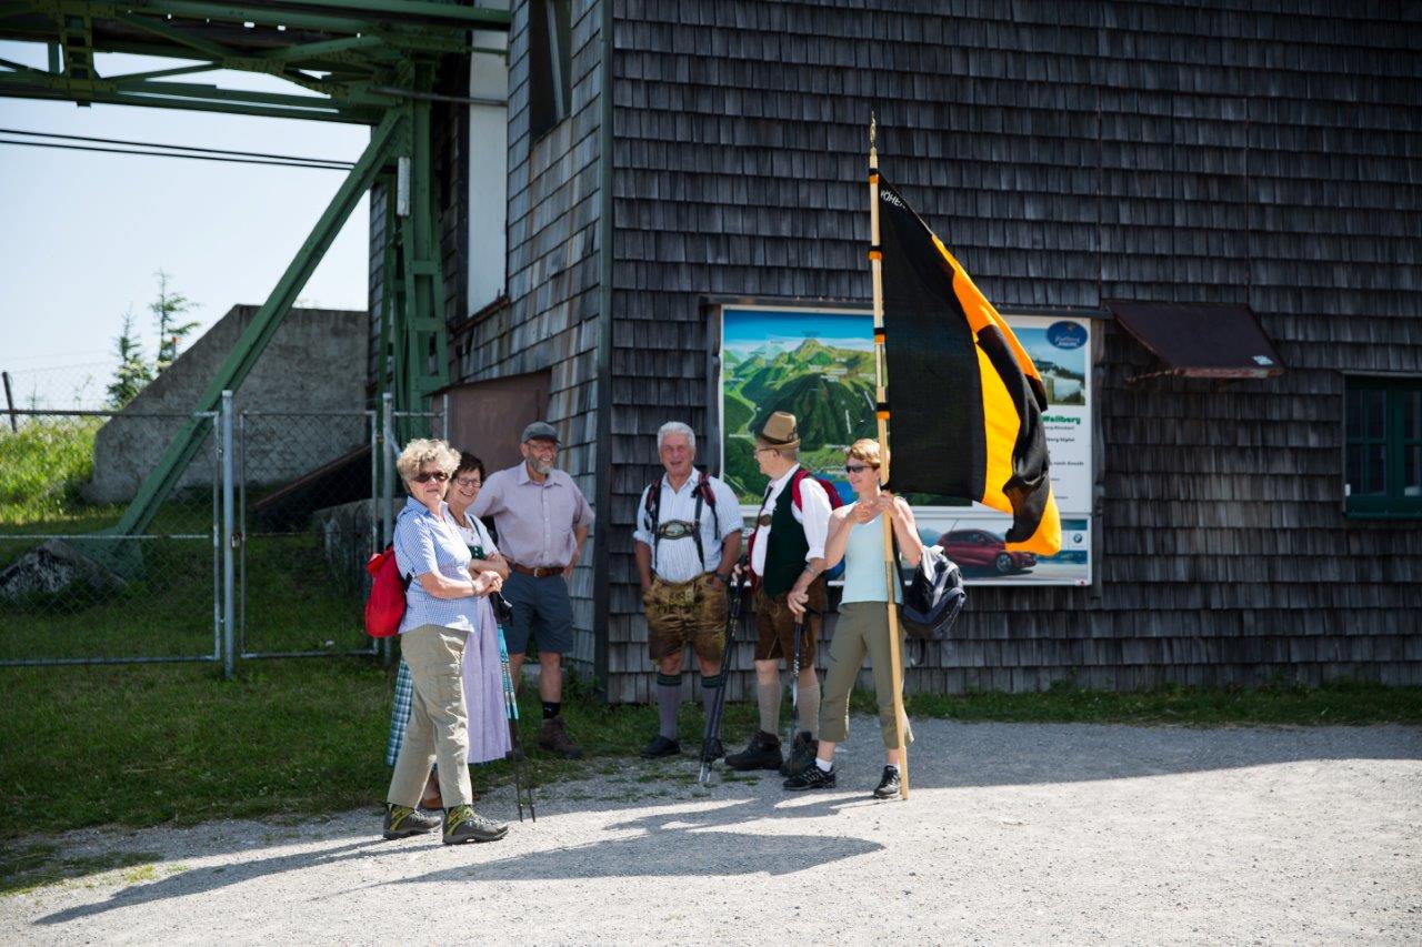
<path id="1" fill-rule="evenodd" d="M 1116 321 L 1150 350 L 1156 375 L 1186 378 L 1274 378 L 1284 374 L 1274 344 L 1249 306 L 1105 301 Z"/>

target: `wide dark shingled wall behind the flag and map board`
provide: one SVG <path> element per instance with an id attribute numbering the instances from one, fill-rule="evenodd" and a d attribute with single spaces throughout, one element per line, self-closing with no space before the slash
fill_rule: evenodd
<path id="1" fill-rule="evenodd" d="M 1422 529 L 1341 512 L 1342 373 L 1422 374 L 1418 10 L 616 0 L 611 698 L 651 687 L 633 508 L 656 428 L 705 428 L 700 300 L 869 299 L 872 108 L 1000 307 L 1247 303 L 1288 365 L 1128 387 L 1098 323 L 1099 587 L 974 589 L 909 685 L 1422 683 Z"/>

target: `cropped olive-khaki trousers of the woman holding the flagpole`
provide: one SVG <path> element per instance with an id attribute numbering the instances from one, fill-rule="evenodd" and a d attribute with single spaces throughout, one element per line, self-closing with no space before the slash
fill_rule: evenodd
<path id="1" fill-rule="evenodd" d="M 903 658 L 904 631 L 899 626 L 899 657 Z M 879 731 L 884 747 L 899 747 L 893 719 L 893 677 L 889 673 L 889 607 L 883 601 L 846 601 L 839 606 L 835 637 L 829 641 L 829 670 L 825 671 L 823 700 L 819 705 L 819 738 L 835 744 L 849 737 L 849 692 L 859 678 L 859 665 L 869 654 L 875 670 L 875 698 L 879 701 Z M 902 678 L 900 678 L 902 680 Z M 913 742 L 909 717 L 903 718 L 903 742 Z"/>

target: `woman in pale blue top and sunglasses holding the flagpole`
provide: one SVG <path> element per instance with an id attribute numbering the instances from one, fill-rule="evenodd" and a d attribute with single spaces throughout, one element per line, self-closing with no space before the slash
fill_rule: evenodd
<path id="1" fill-rule="evenodd" d="M 913 510 L 902 498 L 884 491 L 879 483 L 883 455 L 879 442 L 865 438 L 855 441 L 845 454 L 845 474 L 859 499 L 840 506 L 829 518 L 829 537 L 825 540 L 825 567 L 833 569 L 845 560 L 845 594 L 839 604 L 839 621 L 829 643 L 829 670 L 819 710 L 819 749 L 815 765 L 785 781 L 789 791 L 830 789 L 836 782 L 835 745 L 849 735 L 849 692 L 859 677 L 859 665 L 869 654 L 875 673 L 875 695 L 879 700 L 879 728 L 884 741 L 884 771 L 873 795 L 879 799 L 897 796 L 902 788 L 900 727 L 903 741 L 913 742 L 909 719 L 899 710 L 903 705 L 902 675 L 894 674 L 897 653 L 903 650 L 903 626 L 890 628 L 889 603 L 903 601 L 899 583 L 889 587 L 884 570 L 884 523 L 893 526 L 893 539 L 909 566 L 923 557 L 923 540 L 914 525 Z M 890 599 L 892 596 L 892 599 Z M 805 611 L 805 596 L 791 593 L 786 600 L 796 616 Z M 899 648 L 892 648 L 893 636 Z"/>

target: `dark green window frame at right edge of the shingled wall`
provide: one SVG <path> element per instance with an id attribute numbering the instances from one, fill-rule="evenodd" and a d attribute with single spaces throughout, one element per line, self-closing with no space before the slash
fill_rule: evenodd
<path id="1" fill-rule="evenodd" d="M 1358 437 L 1351 437 L 1348 431 L 1349 400 L 1365 391 L 1384 392 L 1382 437 L 1369 437 L 1364 429 Z M 1405 395 L 1422 392 L 1422 375 L 1344 375 L 1344 404 L 1342 404 L 1342 498 L 1344 513 L 1349 519 L 1422 519 L 1422 495 L 1405 496 L 1405 451 L 1409 448 L 1422 449 L 1422 437 L 1408 437 L 1404 428 Z M 1365 419 L 1364 419 L 1365 427 Z M 1422 434 L 1422 432 L 1419 432 Z M 1352 495 L 1349 493 L 1348 466 L 1354 451 L 1364 451 L 1367 445 L 1381 444 L 1384 446 L 1384 482 L 1381 495 Z M 1368 458 L 1364 454 L 1361 461 L 1361 479 L 1367 479 Z"/>

